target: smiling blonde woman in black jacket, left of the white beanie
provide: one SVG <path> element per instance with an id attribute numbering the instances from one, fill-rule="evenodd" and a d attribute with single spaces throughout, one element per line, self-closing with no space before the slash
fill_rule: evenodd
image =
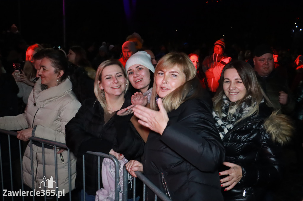
<path id="1" fill-rule="evenodd" d="M 143 153 L 144 142 L 130 122 L 133 106 L 131 94 L 125 94 L 127 88 L 128 79 L 122 64 L 118 60 L 102 62 L 96 73 L 96 98 L 85 100 L 76 116 L 66 125 L 66 145 L 78 158 L 76 187 L 82 189 L 81 199 L 85 193 L 86 200 L 95 200 L 98 190 L 98 157 L 85 154 L 87 151 L 109 153 L 127 160 L 139 159 Z M 100 185 L 103 188 L 101 178 Z"/>

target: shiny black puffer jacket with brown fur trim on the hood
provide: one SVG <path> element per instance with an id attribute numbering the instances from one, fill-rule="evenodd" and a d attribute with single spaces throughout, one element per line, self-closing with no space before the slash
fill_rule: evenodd
<path id="1" fill-rule="evenodd" d="M 235 124 L 222 139 L 225 161 L 242 167 L 239 183 L 229 191 L 222 188 L 225 201 L 263 200 L 269 183 L 281 178 L 280 145 L 290 140 L 292 127 L 285 115 L 271 113 L 264 103 L 259 110 L 257 116 Z M 221 171 L 226 169 L 222 165 Z"/>

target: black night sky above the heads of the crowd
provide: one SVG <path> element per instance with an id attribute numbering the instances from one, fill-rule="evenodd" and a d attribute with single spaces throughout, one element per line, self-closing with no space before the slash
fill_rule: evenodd
<path id="1" fill-rule="evenodd" d="M 223 35 L 227 44 L 240 46 L 266 42 L 288 47 L 302 42 L 303 34 L 291 30 L 295 21 L 303 29 L 303 1 L 128 0 L 129 19 L 123 2 L 65 0 L 67 46 L 82 41 L 122 44 L 133 32 L 146 45 L 213 44 Z M 28 43 L 63 44 L 62 0 L 1 0 L 0 12 L 2 31 L 15 23 Z"/>

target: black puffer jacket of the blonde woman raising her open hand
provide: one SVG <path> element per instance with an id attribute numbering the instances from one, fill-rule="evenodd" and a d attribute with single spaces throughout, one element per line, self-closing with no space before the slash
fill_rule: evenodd
<path id="1" fill-rule="evenodd" d="M 169 112 L 162 136 L 150 132 L 145 144 L 144 174 L 172 200 L 223 200 L 217 169 L 224 148 L 211 99 L 205 90 L 200 94 Z"/>

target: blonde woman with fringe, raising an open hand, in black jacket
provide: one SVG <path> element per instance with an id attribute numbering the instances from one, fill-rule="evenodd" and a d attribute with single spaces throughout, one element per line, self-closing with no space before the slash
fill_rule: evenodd
<path id="1" fill-rule="evenodd" d="M 151 109 L 133 108 L 139 123 L 151 132 L 143 164 L 129 161 L 128 172 L 136 177 L 134 171 L 144 171 L 172 200 L 223 200 L 217 168 L 224 160 L 224 148 L 211 105 L 188 56 L 163 56 L 155 69 Z"/>

